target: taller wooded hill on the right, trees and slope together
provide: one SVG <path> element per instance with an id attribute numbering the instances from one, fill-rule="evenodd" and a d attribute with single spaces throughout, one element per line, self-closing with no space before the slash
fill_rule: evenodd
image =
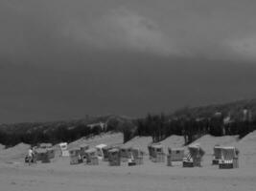
<path id="1" fill-rule="evenodd" d="M 197 108 L 182 108 L 171 116 L 148 115 L 137 119 L 137 135 L 151 136 L 157 142 L 172 135 L 184 136 L 185 143 L 210 134 L 239 135 L 243 138 L 256 130 L 256 100 Z"/>

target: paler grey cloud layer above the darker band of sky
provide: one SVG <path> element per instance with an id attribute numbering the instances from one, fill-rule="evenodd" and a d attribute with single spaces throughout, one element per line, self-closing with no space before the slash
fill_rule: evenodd
<path id="1" fill-rule="evenodd" d="M 254 1 L 1 1 L 2 56 L 62 49 L 255 59 Z M 57 51 L 58 50 L 58 51 Z M 54 54 L 54 55 L 53 55 Z M 43 59 L 47 61 L 47 59 Z"/>

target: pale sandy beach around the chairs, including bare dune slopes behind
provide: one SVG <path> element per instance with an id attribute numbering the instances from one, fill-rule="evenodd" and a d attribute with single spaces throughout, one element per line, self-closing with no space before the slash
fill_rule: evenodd
<path id="1" fill-rule="evenodd" d="M 107 138 L 118 138 L 120 135 L 106 135 Z M 180 164 L 169 167 L 165 163 L 153 163 L 148 156 L 144 157 L 144 164 L 128 166 L 123 162 L 121 166 L 108 166 L 101 161 L 100 165 L 84 164 L 70 165 L 69 158 L 53 159 L 51 163 L 37 163 L 29 166 L 24 164 L 21 152 L 27 149 L 26 144 L 19 144 L 10 149 L 1 150 L 1 155 L 9 155 L 0 161 L 0 190 L 12 191 L 125 191 L 125 190 L 197 190 L 197 191 L 241 191 L 255 190 L 256 187 L 256 154 L 255 132 L 247 137 L 235 141 L 235 138 L 213 138 L 205 136 L 198 139 L 206 148 L 202 167 L 182 168 Z M 111 138 L 109 138 L 110 140 Z M 144 145 L 150 138 L 134 138 L 128 144 Z M 169 138 L 162 143 L 171 144 L 182 142 L 181 138 Z M 98 143 L 101 138 L 95 138 Z M 113 140 L 111 140 L 113 141 Z M 234 144 L 241 149 L 240 168 L 223 170 L 211 165 L 212 156 L 208 148 L 213 143 Z M 235 141 L 235 142 L 234 142 Z M 93 144 L 93 140 L 90 140 Z M 247 148 L 247 149 L 245 149 Z M 249 149 L 248 149 L 249 148 Z M 23 150 L 22 150 L 23 149 Z M 19 152 L 18 152 L 19 150 Z M 17 153 L 17 155 L 14 155 Z M 19 159 L 18 159 L 19 157 Z M 8 159 L 9 158 L 9 159 Z"/>

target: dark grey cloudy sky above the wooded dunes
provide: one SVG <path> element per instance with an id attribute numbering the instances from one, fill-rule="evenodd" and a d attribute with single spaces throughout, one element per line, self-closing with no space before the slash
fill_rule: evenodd
<path id="1" fill-rule="evenodd" d="M 0 123 L 256 97 L 255 0 L 1 0 Z"/>

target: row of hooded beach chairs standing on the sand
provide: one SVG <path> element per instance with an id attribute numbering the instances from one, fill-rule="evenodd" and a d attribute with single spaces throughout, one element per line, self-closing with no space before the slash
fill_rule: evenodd
<path id="1" fill-rule="evenodd" d="M 61 148 L 61 147 L 60 147 Z M 183 167 L 200 167 L 204 151 L 199 144 L 188 146 L 185 155 L 183 148 L 168 148 L 168 154 L 164 153 L 163 145 L 151 143 L 148 146 L 149 157 L 153 162 L 165 162 L 173 166 L 175 162 L 181 162 Z M 62 152 L 63 150 L 63 152 Z M 68 151 L 68 154 L 66 154 Z M 41 144 L 35 149 L 35 159 L 42 162 L 50 162 L 55 158 L 55 150 L 52 145 Z M 60 156 L 69 156 L 70 164 L 85 163 L 98 165 L 99 160 L 108 161 L 110 166 L 120 166 L 121 162 L 127 162 L 128 166 L 143 164 L 143 152 L 139 148 L 124 147 L 120 145 L 107 146 L 105 144 L 90 148 L 88 144 L 81 144 L 67 150 L 67 144 L 61 149 Z M 25 159 L 26 161 L 26 159 Z M 235 147 L 216 145 L 213 148 L 213 165 L 219 165 L 221 169 L 239 167 L 239 151 Z"/>

